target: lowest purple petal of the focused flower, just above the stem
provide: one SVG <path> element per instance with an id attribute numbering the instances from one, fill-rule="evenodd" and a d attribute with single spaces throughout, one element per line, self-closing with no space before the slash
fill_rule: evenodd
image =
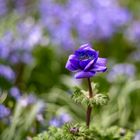
<path id="1" fill-rule="evenodd" d="M 81 79 L 81 78 L 89 78 L 89 77 L 92 77 L 94 75 L 95 75 L 95 72 L 80 71 L 80 72 L 77 72 L 74 77 L 76 79 Z"/>

